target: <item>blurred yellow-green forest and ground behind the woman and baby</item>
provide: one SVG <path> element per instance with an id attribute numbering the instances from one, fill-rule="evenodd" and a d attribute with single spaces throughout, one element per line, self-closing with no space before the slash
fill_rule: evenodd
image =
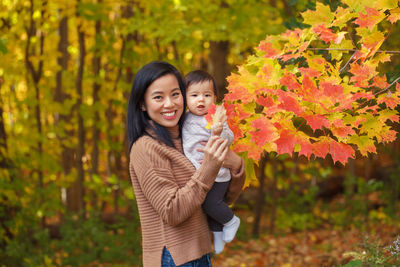
<path id="1" fill-rule="evenodd" d="M 307 27 L 307 9 L 316 1 L 3 0 L 0 266 L 140 266 L 126 134 L 135 73 L 152 60 L 207 70 L 221 100 L 266 35 Z M 399 50 L 399 34 L 397 23 L 381 49 Z M 395 81 L 399 55 L 379 72 Z M 234 206 L 237 240 L 216 266 L 393 263 L 398 140 L 346 165 L 267 153 L 255 174 Z"/>

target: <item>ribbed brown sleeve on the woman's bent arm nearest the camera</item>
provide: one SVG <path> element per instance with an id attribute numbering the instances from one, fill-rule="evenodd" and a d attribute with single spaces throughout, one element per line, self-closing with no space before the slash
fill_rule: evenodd
<path id="1" fill-rule="evenodd" d="M 179 186 L 169 160 L 163 158 L 162 150 L 158 150 L 160 147 L 154 142 L 135 145 L 131 151 L 131 164 L 150 205 L 165 223 L 176 226 L 201 208 L 218 168 L 202 166 L 184 186 Z"/>

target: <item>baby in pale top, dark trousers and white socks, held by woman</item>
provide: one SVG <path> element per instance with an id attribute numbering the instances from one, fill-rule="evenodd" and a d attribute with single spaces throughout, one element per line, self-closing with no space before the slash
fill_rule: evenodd
<path id="1" fill-rule="evenodd" d="M 200 167 L 203 153 L 197 151 L 201 141 L 207 141 L 211 135 L 220 135 L 233 141 L 233 133 L 226 122 L 226 115 L 211 128 L 206 129 L 208 122 L 205 115 L 209 107 L 217 99 L 217 89 L 214 78 L 207 72 L 195 70 L 189 72 L 184 79 L 186 85 L 186 102 L 189 112 L 186 114 L 182 129 L 183 151 L 196 169 Z M 207 214 L 208 224 L 214 235 L 214 251 L 219 254 L 225 243 L 231 242 L 239 228 L 240 219 L 235 216 L 224 202 L 224 196 L 231 180 L 229 169 L 221 167 L 215 183 L 207 194 L 203 203 L 203 210 Z"/>

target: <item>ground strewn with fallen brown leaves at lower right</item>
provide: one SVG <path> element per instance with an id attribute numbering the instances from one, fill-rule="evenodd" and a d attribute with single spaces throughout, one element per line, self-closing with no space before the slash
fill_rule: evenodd
<path id="1" fill-rule="evenodd" d="M 239 240 L 227 244 L 223 253 L 213 255 L 212 264 L 215 267 L 343 266 L 351 260 L 346 252 L 362 252 L 360 244 L 365 237 L 384 247 L 400 235 L 400 224 L 375 224 L 368 228 L 326 226 L 280 235 L 261 234 L 257 239 L 243 238 L 242 234 Z"/>

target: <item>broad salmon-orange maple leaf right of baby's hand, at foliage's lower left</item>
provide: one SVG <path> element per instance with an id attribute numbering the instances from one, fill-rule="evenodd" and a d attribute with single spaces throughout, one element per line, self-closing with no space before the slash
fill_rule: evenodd
<path id="1" fill-rule="evenodd" d="M 275 126 L 266 117 L 260 117 L 251 122 L 251 125 L 256 129 L 249 132 L 253 141 L 258 146 L 263 146 L 267 142 L 273 142 L 278 137 Z"/>

